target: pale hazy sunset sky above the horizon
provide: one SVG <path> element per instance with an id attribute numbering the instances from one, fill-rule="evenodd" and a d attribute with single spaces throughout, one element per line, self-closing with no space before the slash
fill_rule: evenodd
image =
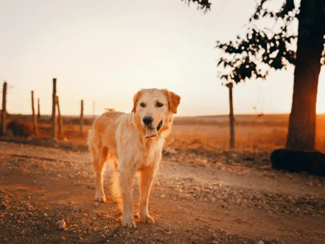
<path id="1" fill-rule="evenodd" d="M 30 113 L 30 90 L 51 113 L 52 78 L 63 115 L 104 108 L 129 112 L 141 88 L 181 96 L 178 115 L 229 112 L 216 78 L 215 41 L 245 31 L 255 0 L 215 0 L 207 14 L 180 0 L 0 0 L 0 83 L 8 111 Z M 293 67 L 234 87 L 235 113 L 288 113 Z M 325 112 L 325 71 L 317 112 Z"/>

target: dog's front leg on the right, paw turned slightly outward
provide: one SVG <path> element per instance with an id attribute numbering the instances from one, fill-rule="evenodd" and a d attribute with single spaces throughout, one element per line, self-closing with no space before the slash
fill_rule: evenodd
<path id="1" fill-rule="evenodd" d="M 140 221 L 149 224 L 154 223 L 154 220 L 150 217 L 148 212 L 148 201 L 154 176 L 154 168 L 145 167 L 140 170 Z"/>

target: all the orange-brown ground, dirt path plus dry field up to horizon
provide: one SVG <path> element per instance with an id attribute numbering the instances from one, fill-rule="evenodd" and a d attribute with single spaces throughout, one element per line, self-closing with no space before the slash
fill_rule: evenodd
<path id="1" fill-rule="evenodd" d="M 119 226 L 110 167 L 108 201 L 93 201 L 89 125 L 81 137 L 76 120 L 65 118 L 58 142 L 44 123 L 39 139 L 4 137 L 0 243 L 325 243 L 324 178 L 270 167 L 287 119 L 237 115 L 236 149 L 229 150 L 227 116 L 175 118 L 149 202 L 156 222 L 132 230 Z M 317 118 L 316 143 L 325 151 L 325 115 Z M 138 200 L 137 182 L 134 193 Z M 62 219 L 67 228 L 58 230 Z"/>

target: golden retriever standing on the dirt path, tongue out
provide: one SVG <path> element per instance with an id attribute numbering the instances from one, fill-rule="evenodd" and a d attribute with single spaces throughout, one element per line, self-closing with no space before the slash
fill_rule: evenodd
<path id="1" fill-rule="evenodd" d="M 180 97 L 167 89 L 142 89 L 134 96 L 131 113 L 105 112 L 88 133 L 96 176 L 95 200 L 106 201 L 102 174 L 106 161 L 111 161 L 111 190 L 122 207 L 123 227 L 136 227 L 132 197 L 136 172 L 140 173 L 140 221 L 154 223 L 148 212 L 150 189 L 179 103 Z"/>

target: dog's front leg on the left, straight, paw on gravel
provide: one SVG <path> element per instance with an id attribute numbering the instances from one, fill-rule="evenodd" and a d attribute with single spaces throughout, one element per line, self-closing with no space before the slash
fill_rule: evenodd
<path id="1" fill-rule="evenodd" d="M 135 171 L 120 171 L 120 189 L 122 197 L 123 221 L 122 226 L 127 228 L 136 227 L 133 217 L 133 179 Z"/>

